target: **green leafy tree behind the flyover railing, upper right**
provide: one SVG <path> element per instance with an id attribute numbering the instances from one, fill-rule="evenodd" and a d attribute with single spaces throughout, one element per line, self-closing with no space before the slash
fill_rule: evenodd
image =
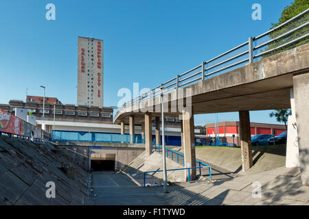
<path id="1" fill-rule="evenodd" d="M 307 10 L 309 8 L 309 0 L 295 0 L 291 5 L 286 6 L 284 8 L 278 23 L 272 23 L 271 29 L 281 25 L 282 23 L 290 20 L 290 18 L 293 18 L 294 16 L 297 16 L 297 14 L 304 12 L 304 10 Z M 295 21 L 288 23 L 287 25 L 284 25 L 283 27 L 279 27 L 275 31 L 271 32 L 268 36 L 270 38 L 277 38 L 277 36 L 280 36 L 287 31 L 290 31 L 291 29 L 294 29 L 295 27 L 299 27 L 300 25 L 303 25 L 304 23 L 309 21 L 309 13 L 304 14 L 303 16 L 297 18 Z M 308 34 L 309 27 L 303 27 L 297 31 L 295 31 L 293 34 L 288 34 L 287 36 L 284 36 L 282 38 L 278 38 L 277 40 L 271 42 L 268 44 L 268 47 L 264 49 L 264 51 L 268 51 L 271 49 L 274 49 L 276 47 L 279 47 L 282 44 L 285 44 L 286 42 L 290 42 L 291 40 L 294 40 L 296 38 L 299 38 L 300 36 L 304 36 L 305 34 Z M 271 53 L 267 53 L 266 55 L 263 55 L 262 57 L 268 57 L 270 55 L 274 55 L 276 53 L 280 53 L 282 51 L 286 51 L 288 49 L 293 49 L 295 47 L 298 47 L 302 44 L 306 44 L 309 42 L 309 38 L 305 38 L 303 40 L 300 40 L 298 42 L 295 42 L 293 44 L 287 45 L 285 47 L 282 47 L 280 49 L 277 49 L 275 51 L 272 51 Z"/>

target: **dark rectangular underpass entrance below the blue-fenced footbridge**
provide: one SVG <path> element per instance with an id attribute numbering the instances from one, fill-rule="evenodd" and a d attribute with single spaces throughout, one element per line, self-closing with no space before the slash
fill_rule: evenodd
<path id="1" fill-rule="evenodd" d="M 92 153 L 91 171 L 114 171 L 115 157 L 115 154 Z"/>

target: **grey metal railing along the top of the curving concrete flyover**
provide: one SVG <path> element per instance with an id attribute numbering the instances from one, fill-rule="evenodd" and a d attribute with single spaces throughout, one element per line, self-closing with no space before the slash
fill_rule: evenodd
<path id="1" fill-rule="evenodd" d="M 202 62 L 200 65 L 187 70 L 185 73 L 176 75 L 176 77 L 161 83 L 161 85 L 141 94 L 135 99 L 132 99 L 119 108 L 117 114 L 125 107 L 141 103 L 148 99 L 153 99 L 161 94 L 183 88 L 196 81 L 203 81 L 227 73 L 230 70 L 244 66 L 266 57 L 273 55 L 280 49 L 289 48 L 289 46 L 308 40 L 308 12 L 309 9 L 301 12 L 290 20 L 278 25 L 277 27 L 266 31 L 264 34 L 255 37 L 249 37 L 249 40 L 242 44 L 222 53 L 207 62 Z M 259 50 L 260 49 L 260 50 Z M 162 91 L 161 91 L 162 88 Z M 115 117 L 117 117 L 117 114 Z"/>

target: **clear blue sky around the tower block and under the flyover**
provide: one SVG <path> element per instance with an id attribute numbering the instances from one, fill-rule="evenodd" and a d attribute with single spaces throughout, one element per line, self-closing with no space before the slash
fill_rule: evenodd
<path id="1" fill-rule="evenodd" d="M 76 104 L 77 40 L 104 40 L 104 105 L 117 105 L 120 88 L 154 88 L 224 51 L 267 31 L 292 0 L 2 1 L 0 5 L 0 103 L 30 95 Z M 45 5 L 56 5 L 56 21 Z M 253 21 L 251 5 L 262 5 Z M 238 113 L 219 114 L 238 120 Z M 268 112 L 251 121 L 276 123 Z M 195 116 L 196 125 L 214 115 Z"/>

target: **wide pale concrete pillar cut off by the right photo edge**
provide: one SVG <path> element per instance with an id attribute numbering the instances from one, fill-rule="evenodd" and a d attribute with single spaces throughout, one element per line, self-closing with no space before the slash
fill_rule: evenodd
<path id="1" fill-rule="evenodd" d="M 301 181 L 309 186 L 309 72 L 293 75 Z"/>

